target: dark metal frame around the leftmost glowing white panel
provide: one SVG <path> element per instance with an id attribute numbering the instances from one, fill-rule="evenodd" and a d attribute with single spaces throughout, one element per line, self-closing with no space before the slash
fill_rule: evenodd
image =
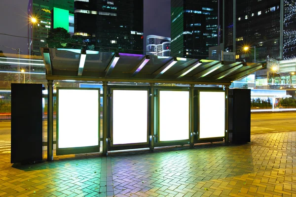
<path id="1" fill-rule="evenodd" d="M 59 148 L 59 90 L 93 90 L 98 91 L 98 145 L 95 146 L 82 146 L 82 147 L 69 147 Z M 100 119 L 101 119 L 101 104 L 100 104 L 100 88 L 60 88 L 57 87 L 57 111 L 56 111 L 56 155 L 69 155 L 69 154 L 80 154 L 80 153 L 94 153 L 100 152 L 101 134 L 100 134 Z M 77 106 L 79 107 L 79 106 Z"/>

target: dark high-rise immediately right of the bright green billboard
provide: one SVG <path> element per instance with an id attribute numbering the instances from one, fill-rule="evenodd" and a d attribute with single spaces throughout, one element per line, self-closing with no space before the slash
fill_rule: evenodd
<path id="1" fill-rule="evenodd" d="M 143 0 L 75 0 L 74 35 L 99 51 L 143 54 Z"/>

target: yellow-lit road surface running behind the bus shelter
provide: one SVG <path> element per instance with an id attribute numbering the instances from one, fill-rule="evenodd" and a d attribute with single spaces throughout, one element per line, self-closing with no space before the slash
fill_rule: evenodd
<path id="1" fill-rule="evenodd" d="M 56 121 L 54 121 L 54 140 L 56 140 L 55 131 Z M 296 112 L 251 114 L 251 134 L 283 131 L 296 131 Z M 43 132 L 43 136 L 45 136 L 44 140 L 46 141 L 47 121 L 44 121 Z M 0 154 L 1 153 L 10 153 L 10 121 L 0 122 Z"/>

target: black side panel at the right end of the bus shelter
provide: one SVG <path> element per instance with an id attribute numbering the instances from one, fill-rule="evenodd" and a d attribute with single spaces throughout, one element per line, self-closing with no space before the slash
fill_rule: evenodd
<path id="1" fill-rule="evenodd" d="M 229 129 L 232 127 L 232 143 L 250 142 L 251 90 L 232 89 L 229 91 L 229 95 L 232 95 L 232 99 L 229 99 L 229 116 L 232 115 L 229 118 Z"/>

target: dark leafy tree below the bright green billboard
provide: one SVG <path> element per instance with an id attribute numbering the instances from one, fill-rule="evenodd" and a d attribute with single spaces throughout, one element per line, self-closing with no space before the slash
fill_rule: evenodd
<path id="1" fill-rule="evenodd" d="M 64 28 L 55 28 L 48 31 L 46 43 L 49 48 L 68 48 L 68 43 L 73 41 L 71 34 Z"/>

